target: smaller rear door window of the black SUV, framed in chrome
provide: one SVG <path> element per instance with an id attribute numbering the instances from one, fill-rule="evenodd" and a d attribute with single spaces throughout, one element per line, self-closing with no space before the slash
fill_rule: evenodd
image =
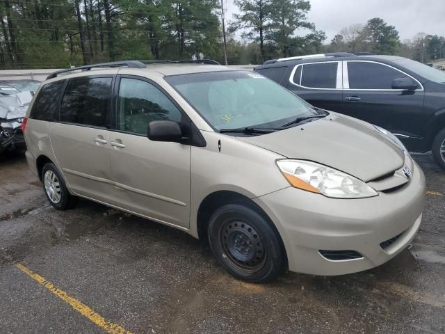
<path id="1" fill-rule="evenodd" d="M 337 88 L 337 66 L 337 62 L 303 65 L 301 86 L 309 88 Z"/>

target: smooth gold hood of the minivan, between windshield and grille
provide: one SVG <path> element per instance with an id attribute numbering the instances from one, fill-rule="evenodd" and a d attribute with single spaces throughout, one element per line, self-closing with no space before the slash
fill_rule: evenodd
<path id="1" fill-rule="evenodd" d="M 262 136 L 238 137 L 289 159 L 318 162 L 369 182 L 401 168 L 403 150 L 372 125 L 337 113 Z"/>

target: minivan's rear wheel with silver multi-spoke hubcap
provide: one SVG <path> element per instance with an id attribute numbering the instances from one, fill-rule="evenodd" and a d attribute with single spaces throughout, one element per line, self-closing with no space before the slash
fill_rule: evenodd
<path id="1" fill-rule="evenodd" d="M 63 180 L 54 164 L 47 163 L 43 166 L 42 184 L 44 194 L 54 209 L 72 209 L 77 204 L 79 198 L 70 194 L 65 180 Z"/>

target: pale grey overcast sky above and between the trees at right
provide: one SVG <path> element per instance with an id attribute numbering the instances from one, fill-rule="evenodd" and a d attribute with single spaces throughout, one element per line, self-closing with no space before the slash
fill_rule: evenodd
<path id="1" fill-rule="evenodd" d="M 237 10 L 233 0 L 227 2 L 226 19 Z M 445 0 L 310 0 L 309 22 L 325 31 L 329 42 L 334 35 L 351 24 L 364 24 L 381 17 L 396 26 L 401 41 L 416 33 L 445 35 Z M 296 32 L 298 33 L 298 31 Z M 301 34 L 301 32 L 299 33 Z M 237 33 L 239 38 L 239 34 Z"/>

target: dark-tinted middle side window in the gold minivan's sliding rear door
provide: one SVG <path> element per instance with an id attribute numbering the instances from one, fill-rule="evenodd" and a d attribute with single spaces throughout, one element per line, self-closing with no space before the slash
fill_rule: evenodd
<path id="1" fill-rule="evenodd" d="M 106 127 L 112 78 L 81 78 L 68 81 L 60 105 L 60 122 Z"/>

